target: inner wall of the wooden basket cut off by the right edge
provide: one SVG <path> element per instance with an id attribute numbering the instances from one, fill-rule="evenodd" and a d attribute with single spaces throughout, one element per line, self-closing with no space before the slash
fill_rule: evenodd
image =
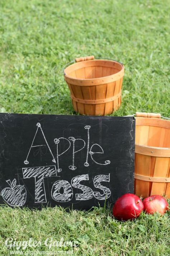
<path id="1" fill-rule="evenodd" d="M 135 143 L 150 147 L 170 148 L 170 129 L 151 125 L 136 125 Z"/>

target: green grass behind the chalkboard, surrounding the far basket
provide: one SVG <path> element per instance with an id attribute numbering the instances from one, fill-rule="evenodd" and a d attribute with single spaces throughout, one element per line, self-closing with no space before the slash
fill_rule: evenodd
<path id="1" fill-rule="evenodd" d="M 1 111 L 74 114 L 62 67 L 94 54 L 125 66 L 115 115 L 170 116 L 169 1 L 91 2 L 0 1 Z"/>

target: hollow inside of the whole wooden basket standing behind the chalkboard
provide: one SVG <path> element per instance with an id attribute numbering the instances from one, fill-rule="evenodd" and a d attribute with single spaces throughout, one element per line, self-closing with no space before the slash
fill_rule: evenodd
<path id="1" fill-rule="evenodd" d="M 118 62 L 105 60 L 89 60 L 77 62 L 65 69 L 67 76 L 79 79 L 93 79 L 113 75 L 123 69 Z"/>

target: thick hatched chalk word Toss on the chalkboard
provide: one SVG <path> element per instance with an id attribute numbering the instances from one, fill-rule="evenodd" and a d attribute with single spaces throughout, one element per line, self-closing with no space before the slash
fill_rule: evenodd
<path id="1" fill-rule="evenodd" d="M 35 203 L 45 203 L 46 191 L 44 186 L 44 178 L 57 176 L 56 168 L 54 166 L 42 166 L 33 168 L 23 168 L 24 179 L 35 179 Z M 81 181 L 89 180 L 88 174 L 78 175 L 71 179 L 71 184 L 67 180 L 57 180 L 52 186 L 51 197 L 57 202 L 69 202 L 73 198 L 73 188 L 82 190 L 82 193 L 75 194 L 76 200 L 89 200 L 95 197 L 98 200 L 105 200 L 110 197 L 110 189 L 104 187 L 101 182 L 110 181 L 109 175 L 96 175 L 93 179 L 95 188 L 101 192 L 93 191 L 90 187 L 80 184 Z M 61 191 L 62 189 L 62 191 Z"/>

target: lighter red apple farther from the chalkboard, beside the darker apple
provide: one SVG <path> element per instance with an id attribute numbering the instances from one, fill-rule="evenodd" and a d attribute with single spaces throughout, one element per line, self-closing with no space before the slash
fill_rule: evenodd
<path id="1" fill-rule="evenodd" d="M 169 210 L 166 199 L 159 195 L 153 195 L 143 200 L 144 211 L 148 214 L 159 212 L 164 214 L 166 210 Z"/>

